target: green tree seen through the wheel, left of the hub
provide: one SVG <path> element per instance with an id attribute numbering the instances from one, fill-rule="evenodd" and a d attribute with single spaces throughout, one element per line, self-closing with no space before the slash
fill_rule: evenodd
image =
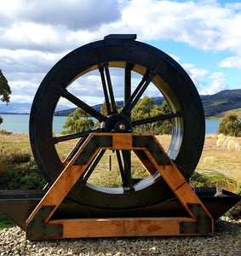
<path id="1" fill-rule="evenodd" d="M 66 124 L 63 125 L 67 131 L 61 131 L 61 134 L 71 134 L 82 131 L 89 131 L 95 126 L 92 119 L 89 119 L 89 114 L 83 109 L 77 108 L 73 113 L 69 114 Z"/>

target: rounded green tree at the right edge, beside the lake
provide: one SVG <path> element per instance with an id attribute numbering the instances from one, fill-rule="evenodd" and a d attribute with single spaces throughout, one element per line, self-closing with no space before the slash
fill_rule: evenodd
<path id="1" fill-rule="evenodd" d="M 235 137 L 241 136 L 241 121 L 238 120 L 238 115 L 228 113 L 218 126 L 218 133 Z"/>

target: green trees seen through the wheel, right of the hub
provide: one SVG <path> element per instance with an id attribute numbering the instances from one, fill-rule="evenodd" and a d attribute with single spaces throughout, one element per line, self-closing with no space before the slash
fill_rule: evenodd
<path id="1" fill-rule="evenodd" d="M 169 113 L 169 107 L 166 101 L 162 106 L 158 107 L 155 102 L 152 101 L 148 96 L 137 103 L 131 114 L 132 120 L 146 119 L 155 116 L 160 116 Z M 170 134 L 171 123 L 169 120 L 153 122 L 151 124 L 138 125 L 135 127 L 137 132 L 148 132 L 154 134 Z"/>

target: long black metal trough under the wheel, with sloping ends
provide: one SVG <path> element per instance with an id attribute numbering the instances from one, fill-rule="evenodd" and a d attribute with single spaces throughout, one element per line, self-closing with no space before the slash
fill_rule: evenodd
<path id="1" fill-rule="evenodd" d="M 37 207 L 37 204 L 46 192 L 46 190 L 0 191 L 0 212 L 20 226 L 21 229 L 25 230 L 26 219 L 34 208 Z M 220 218 L 241 200 L 241 196 L 219 188 L 197 188 L 195 192 L 215 220 Z M 56 210 L 53 218 L 150 218 L 187 216 L 188 214 L 181 206 L 180 201 L 174 197 L 152 206 L 121 211 L 86 207 L 65 200 Z"/>

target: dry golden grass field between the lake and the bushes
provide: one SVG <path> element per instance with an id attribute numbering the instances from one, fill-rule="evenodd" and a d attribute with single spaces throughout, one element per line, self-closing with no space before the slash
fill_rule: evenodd
<path id="1" fill-rule="evenodd" d="M 199 160 L 196 171 L 201 173 L 217 173 L 223 174 L 227 177 L 232 177 L 236 181 L 241 182 L 241 151 L 228 150 L 227 147 L 217 147 L 217 135 L 209 135 L 205 139 L 204 151 Z M 241 145 L 241 137 L 234 138 Z M 158 136 L 159 142 L 163 145 L 166 150 L 169 147 L 170 136 Z M 69 142 L 59 143 L 56 145 L 58 153 L 61 155 L 61 159 L 64 160 L 67 154 L 74 148 L 77 140 Z M 4 147 L 4 148 L 3 148 Z M 29 137 L 26 134 L 11 134 L 3 135 L 0 134 L 0 149 L 3 148 L 20 148 L 31 150 Z M 108 155 L 111 152 L 107 152 L 103 160 L 98 165 L 99 173 L 109 170 Z M 204 164 L 204 158 L 207 156 L 211 157 L 212 161 Z M 116 168 L 116 160 L 112 158 L 112 168 Z M 137 163 L 137 160 L 133 162 L 135 168 L 141 168 L 141 165 Z M 97 173 L 97 172 L 96 172 Z"/>

